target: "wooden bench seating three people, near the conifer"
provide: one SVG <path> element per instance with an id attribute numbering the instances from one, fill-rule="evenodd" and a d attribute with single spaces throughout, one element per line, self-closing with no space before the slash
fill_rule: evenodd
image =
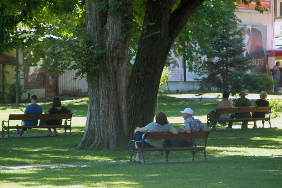
<path id="1" fill-rule="evenodd" d="M 233 107 L 233 108 L 218 108 L 215 112 L 215 114 L 211 115 L 208 113 L 207 119 L 208 119 L 208 124 L 209 125 L 212 121 L 215 122 L 241 122 L 241 121 L 262 121 L 262 127 L 264 127 L 264 123 L 268 122 L 269 126 L 271 128 L 271 123 L 270 123 L 270 115 L 271 115 L 271 107 Z M 228 119 L 218 119 L 219 114 L 222 113 L 244 113 L 244 112 L 266 112 L 268 115 L 265 118 L 228 118 Z M 215 117 L 215 120 L 213 118 Z"/>

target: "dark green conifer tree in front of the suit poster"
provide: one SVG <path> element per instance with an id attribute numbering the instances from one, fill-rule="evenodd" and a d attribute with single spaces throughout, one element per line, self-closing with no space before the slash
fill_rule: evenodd
<path id="1" fill-rule="evenodd" d="M 251 89 L 251 80 L 255 79 L 253 74 L 248 73 L 252 67 L 249 65 L 251 59 L 243 56 L 244 38 L 232 12 L 233 10 L 226 10 L 222 19 L 217 20 L 218 27 L 207 31 L 213 38 L 201 50 L 207 60 L 198 69 L 199 75 L 203 77 L 197 79 L 203 93 L 217 89 L 229 90 L 234 95 L 242 89 Z"/>

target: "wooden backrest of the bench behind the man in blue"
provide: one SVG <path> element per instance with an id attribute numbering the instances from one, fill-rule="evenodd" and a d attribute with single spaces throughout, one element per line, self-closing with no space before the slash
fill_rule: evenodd
<path id="1" fill-rule="evenodd" d="M 70 119 L 72 114 L 10 114 L 9 120 Z"/>

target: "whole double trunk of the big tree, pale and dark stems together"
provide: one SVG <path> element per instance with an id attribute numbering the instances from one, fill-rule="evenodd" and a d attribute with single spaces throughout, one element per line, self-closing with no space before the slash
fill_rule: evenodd
<path id="1" fill-rule="evenodd" d="M 135 127 L 143 127 L 153 120 L 158 86 L 170 47 L 203 0 L 182 0 L 174 11 L 175 0 L 147 1 L 143 21 L 146 32 L 141 35 L 127 91 L 129 39 L 122 32 L 126 25 L 124 13 L 110 10 L 111 6 L 108 11 L 101 11 L 98 2 L 85 1 L 89 44 L 93 46 L 93 54 L 103 53 L 90 58 L 89 68 L 98 65 L 98 69 L 87 74 L 89 107 L 78 147 L 112 149 L 122 143 L 120 139 L 132 137 Z M 126 7 L 123 11 L 132 13 L 132 4 L 123 6 Z"/>

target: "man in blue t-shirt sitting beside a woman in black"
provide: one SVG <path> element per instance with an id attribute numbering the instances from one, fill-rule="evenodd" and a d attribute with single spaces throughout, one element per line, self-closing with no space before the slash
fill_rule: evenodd
<path id="1" fill-rule="evenodd" d="M 33 95 L 31 96 L 31 104 L 28 105 L 25 108 L 24 111 L 25 114 L 42 114 L 42 108 L 37 104 L 37 96 Z M 37 125 L 38 124 L 38 120 L 26 120 L 26 121 L 22 121 L 22 126 L 28 126 L 28 125 Z M 26 131 L 26 128 L 21 128 L 21 129 L 17 129 L 19 130 L 18 133 L 20 134 L 20 136 L 23 136 L 23 132 Z"/>

